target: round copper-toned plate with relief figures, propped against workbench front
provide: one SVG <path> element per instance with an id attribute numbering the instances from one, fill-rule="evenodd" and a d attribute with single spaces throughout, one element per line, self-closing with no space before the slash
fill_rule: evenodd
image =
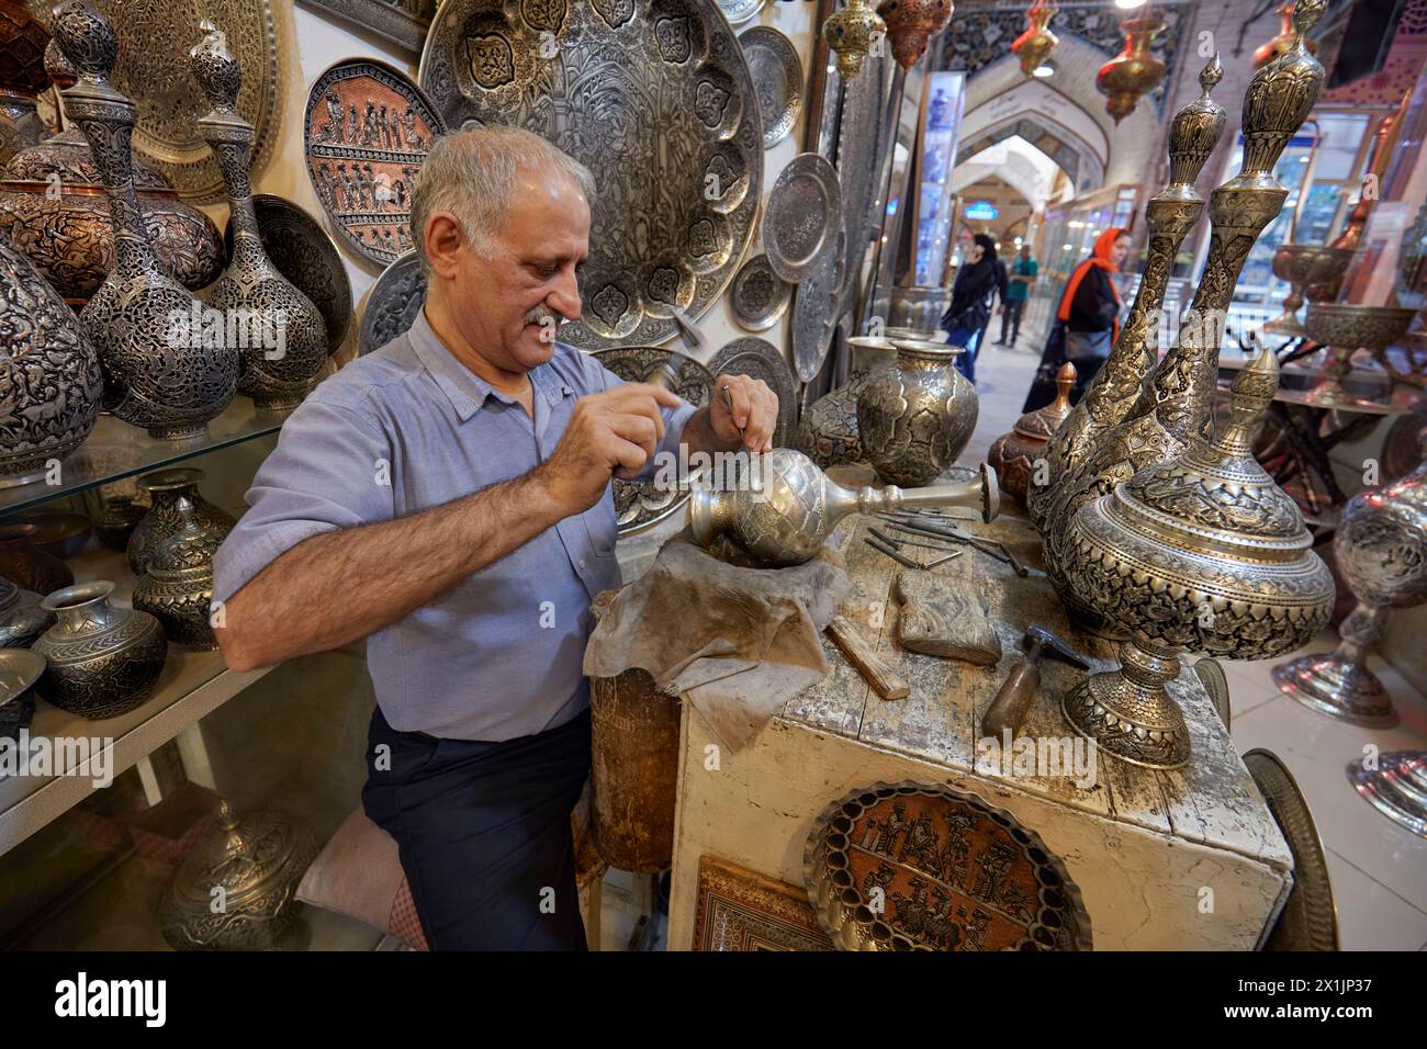
<path id="1" fill-rule="evenodd" d="M 1089 951 L 1065 862 L 1009 812 L 942 785 L 875 784 L 823 809 L 808 899 L 845 951 Z"/>

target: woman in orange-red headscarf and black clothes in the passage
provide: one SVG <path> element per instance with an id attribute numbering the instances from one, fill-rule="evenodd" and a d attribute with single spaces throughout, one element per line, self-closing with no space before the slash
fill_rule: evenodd
<path id="1" fill-rule="evenodd" d="M 1120 271 L 1120 263 L 1129 250 L 1129 230 L 1113 225 L 1096 238 L 1090 257 L 1070 274 L 1056 310 L 1056 324 L 1050 328 L 1040 368 L 1022 411 L 1050 404 L 1056 391 L 1056 371 L 1065 361 L 1076 367 L 1072 401 L 1080 400 L 1090 380 L 1104 365 L 1110 347 L 1120 335 L 1120 293 L 1110 274 Z"/>

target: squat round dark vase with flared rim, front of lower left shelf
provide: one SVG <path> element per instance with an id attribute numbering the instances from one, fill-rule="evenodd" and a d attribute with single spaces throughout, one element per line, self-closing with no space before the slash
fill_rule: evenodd
<path id="1" fill-rule="evenodd" d="M 50 594 L 41 608 L 59 622 L 33 649 L 49 665 L 40 695 L 83 718 L 117 718 L 138 706 L 158 682 L 168 642 L 158 619 L 108 602 L 114 584 L 100 579 Z"/>

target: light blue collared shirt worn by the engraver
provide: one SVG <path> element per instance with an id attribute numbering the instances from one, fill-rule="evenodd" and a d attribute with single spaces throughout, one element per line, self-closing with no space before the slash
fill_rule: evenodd
<path id="1" fill-rule="evenodd" d="M 529 472 L 555 450 L 577 398 L 619 384 L 596 358 L 564 344 L 529 378 L 534 420 L 452 357 L 425 314 L 348 364 L 284 422 L 248 490 L 248 511 L 214 557 L 214 598 L 227 601 L 313 535 L 417 514 Z M 678 451 L 692 414 L 688 404 L 664 410 L 661 451 Z M 651 461 L 646 474 L 654 468 Z M 606 488 L 591 510 L 372 634 L 367 667 L 387 722 L 502 741 L 584 711 L 589 601 L 619 585 L 615 538 Z M 407 557 L 392 549 L 392 569 Z M 361 602 L 360 579 L 347 599 Z"/>

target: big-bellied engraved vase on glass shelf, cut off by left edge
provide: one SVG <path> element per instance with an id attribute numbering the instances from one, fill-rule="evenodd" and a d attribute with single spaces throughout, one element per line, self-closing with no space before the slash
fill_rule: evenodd
<path id="1" fill-rule="evenodd" d="M 0 488 L 44 477 L 98 420 L 98 354 L 54 290 L 0 233 Z"/>

